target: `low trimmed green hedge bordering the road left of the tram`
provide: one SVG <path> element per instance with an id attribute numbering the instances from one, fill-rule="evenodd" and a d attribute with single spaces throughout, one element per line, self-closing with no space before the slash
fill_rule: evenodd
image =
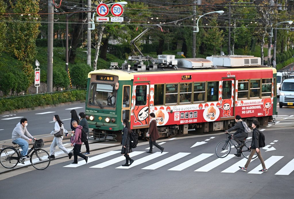
<path id="1" fill-rule="evenodd" d="M 80 100 L 86 100 L 86 89 L 1 98 L 0 114 L 4 111 L 24 108 L 34 110 L 38 106 L 57 105 Z"/>

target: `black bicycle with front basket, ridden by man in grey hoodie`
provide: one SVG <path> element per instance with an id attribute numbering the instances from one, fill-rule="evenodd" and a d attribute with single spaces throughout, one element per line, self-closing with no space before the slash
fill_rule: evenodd
<path id="1" fill-rule="evenodd" d="M 44 170 L 50 164 L 48 152 L 41 149 L 44 146 L 44 142 L 32 140 L 32 143 L 33 147 L 28 151 L 28 155 L 32 152 L 30 155 L 30 162 L 35 169 Z M 25 159 L 20 155 L 19 145 L 14 142 L 12 142 L 12 144 L 16 145 L 17 149 L 12 146 L 3 145 L 3 149 L 0 152 L 0 163 L 3 167 L 8 169 L 14 168 L 18 163 L 25 164 Z"/>

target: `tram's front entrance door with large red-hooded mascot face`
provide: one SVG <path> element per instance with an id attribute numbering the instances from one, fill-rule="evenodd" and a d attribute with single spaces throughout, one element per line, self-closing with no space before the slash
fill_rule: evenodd
<path id="1" fill-rule="evenodd" d="M 148 82 L 137 83 L 133 87 L 133 126 L 149 125 L 149 88 Z"/>

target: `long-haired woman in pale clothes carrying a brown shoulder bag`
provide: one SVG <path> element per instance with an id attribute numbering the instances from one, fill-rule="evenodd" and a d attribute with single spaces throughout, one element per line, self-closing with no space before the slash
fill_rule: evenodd
<path id="1" fill-rule="evenodd" d="M 67 130 L 64 129 L 63 127 L 63 122 L 61 122 L 61 120 L 59 119 L 59 115 L 54 115 L 53 116 L 53 121 L 55 122 L 54 124 L 54 130 L 51 131 L 51 135 L 54 135 L 55 133 L 59 132 L 61 128 L 63 128 L 63 132 L 67 133 Z M 64 153 L 66 153 L 67 155 L 69 155 L 69 159 L 71 159 L 71 157 L 73 156 L 72 152 L 69 152 L 63 145 L 62 145 L 62 139 L 63 136 L 61 137 L 54 137 L 53 141 L 50 145 L 50 159 L 54 159 L 55 158 L 55 147 L 58 146 L 58 148 L 60 150 L 62 150 Z M 48 158 L 49 158 L 48 157 Z"/>

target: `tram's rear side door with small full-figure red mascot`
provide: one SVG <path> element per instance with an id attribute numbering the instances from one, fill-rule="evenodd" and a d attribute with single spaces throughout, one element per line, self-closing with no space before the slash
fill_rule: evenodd
<path id="1" fill-rule="evenodd" d="M 235 79 L 222 79 L 220 87 L 220 94 L 221 94 L 221 106 L 220 106 L 220 117 L 223 120 L 226 119 L 232 119 L 234 118 L 235 114 L 235 89 L 234 89 L 234 83 Z"/>

